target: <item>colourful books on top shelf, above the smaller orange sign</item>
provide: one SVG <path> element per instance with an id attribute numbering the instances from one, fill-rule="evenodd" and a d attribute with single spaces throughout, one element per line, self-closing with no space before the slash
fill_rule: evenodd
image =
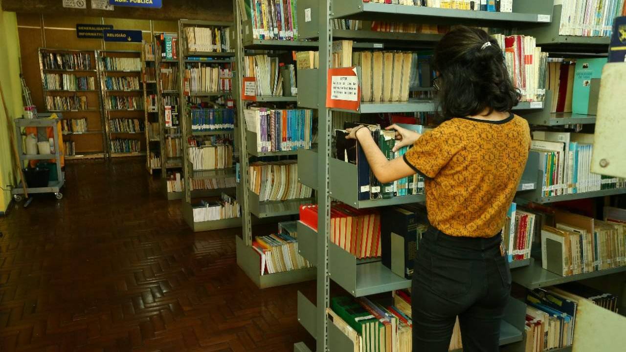
<path id="1" fill-rule="evenodd" d="M 244 0 L 254 39 L 298 39 L 296 0 Z"/>

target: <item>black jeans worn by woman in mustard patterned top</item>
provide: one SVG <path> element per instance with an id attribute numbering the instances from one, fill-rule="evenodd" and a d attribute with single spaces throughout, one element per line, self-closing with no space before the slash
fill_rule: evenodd
<path id="1" fill-rule="evenodd" d="M 453 237 L 429 227 L 413 274 L 413 351 L 446 352 L 459 317 L 464 352 L 497 352 L 511 291 L 501 235 Z"/>

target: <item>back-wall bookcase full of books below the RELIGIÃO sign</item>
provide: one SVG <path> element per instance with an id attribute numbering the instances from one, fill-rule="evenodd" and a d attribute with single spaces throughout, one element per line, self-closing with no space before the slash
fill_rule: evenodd
<path id="1" fill-rule="evenodd" d="M 98 65 L 109 156 L 145 155 L 141 52 L 100 50 Z"/>

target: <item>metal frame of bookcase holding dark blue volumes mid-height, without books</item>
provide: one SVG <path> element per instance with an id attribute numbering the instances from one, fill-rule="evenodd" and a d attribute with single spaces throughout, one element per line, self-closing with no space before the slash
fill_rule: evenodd
<path id="1" fill-rule="evenodd" d="M 212 220 L 195 222 L 193 219 L 192 202 L 195 198 L 200 197 L 219 197 L 220 194 L 225 193 L 228 195 L 235 194 L 237 187 L 227 189 L 208 189 L 208 190 L 192 190 L 192 180 L 202 179 L 225 179 L 235 177 L 235 167 L 222 168 L 214 170 L 193 170 L 193 164 L 190 160 L 189 147 L 187 140 L 194 136 L 208 136 L 208 135 L 233 135 L 234 130 L 224 130 L 215 132 L 195 132 L 192 131 L 192 118 L 190 112 L 190 103 L 197 101 L 215 101 L 217 98 L 227 97 L 230 92 L 187 92 L 185 91 L 185 85 L 183 80 L 185 78 L 185 67 L 188 63 L 232 63 L 232 57 L 235 53 L 232 52 L 215 52 L 215 51 L 194 51 L 188 52 L 185 43 L 187 38 L 185 35 L 186 27 L 220 27 L 222 30 L 226 30 L 232 26 L 230 22 L 219 21 L 201 21 L 191 19 L 180 19 L 178 21 L 178 66 L 180 68 L 178 85 L 180 89 L 178 91 L 180 95 L 180 129 L 182 133 L 182 170 L 185 176 L 185 190 L 183 197 L 183 217 L 187 224 L 196 232 L 218 229 L 229 229 L 232 227 L 239 227 L 241 225 L 241 218 L 235 217 L 232 219 Z M 191 60 L 190 58 L 201 58 L 202 60 Z M 235 138 L 235 144 L 233 148 L 238 148 L 240 143 Z M 235 164 L 235 160 L 233 160 Z M 238 199 L 240 204 L 241 200 Z M 241 204 L 242 212 L 243 205 Z"/>

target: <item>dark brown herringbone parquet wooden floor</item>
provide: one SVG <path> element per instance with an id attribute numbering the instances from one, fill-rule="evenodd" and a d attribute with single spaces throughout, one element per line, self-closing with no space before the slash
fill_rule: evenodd
<path id="1" fill-rule="evenodd" d="M 0 217 L 0 351 L 293 351 L 298 290 L 259 290 L 240 229 L 193 233 L 142 159 L 71 163 Z M 272 225 L 274 226 L 274 225 Z"/>

